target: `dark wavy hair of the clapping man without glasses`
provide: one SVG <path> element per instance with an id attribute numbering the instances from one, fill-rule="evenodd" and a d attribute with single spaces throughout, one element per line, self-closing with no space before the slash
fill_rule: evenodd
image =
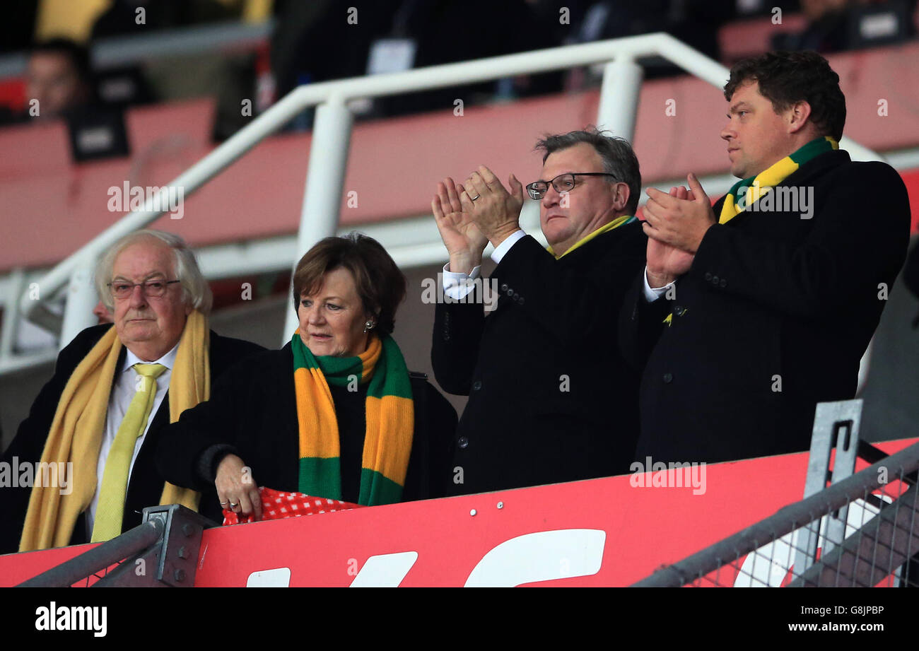
<path id="1" fill-rule="evenodd" d="M 777 113 L 806 101 L 811 105 L 811 122 L 820 135 L 837 141 L 843 137 L 845 95 L 839 88 L 839 75 L 817 52 L 766 52 L 734 63 L 731 78 L 724 85 L 725 99 L 731 101 L 738 86 L 753 81 Z"/>

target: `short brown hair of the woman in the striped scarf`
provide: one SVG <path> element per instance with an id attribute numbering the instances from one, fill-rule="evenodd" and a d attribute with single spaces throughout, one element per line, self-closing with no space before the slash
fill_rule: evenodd
<path id="1" fill-rule="evenodd" d="M 318 291 L 325 274 L 337 268 L 351 272 L 364 312 L 373 314 L 376 329 L 389 335 L 396 309 L 405 298 L 405 276 L 386 249 L 362 233 L 326 237 L 300 258 L 293 272 L 293 309 L 301 296 Z"/>

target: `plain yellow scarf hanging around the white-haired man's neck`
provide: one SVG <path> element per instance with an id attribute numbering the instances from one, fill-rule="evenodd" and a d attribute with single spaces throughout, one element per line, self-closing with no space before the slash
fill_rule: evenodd
<path id="1" fill-rule="evenodd" d="M 204 314 L 188 315 L 169 380 L 169 422 L 210 397 L 210 330 Z M 115 328 L 108 329 L 67 381 L 51 422 L 41 463 L 73 463 L 72 492 L 36 481 L 28 500 L 20 552 L 70 544 L 77 518 L 96 494 L 96 468 L 105 435 L 108 397 L 121 352 Z M 59 466 L 60 467 L 60 466 Z M 165 484 L 160 504 L 198 510 L 199 493 Z"/>

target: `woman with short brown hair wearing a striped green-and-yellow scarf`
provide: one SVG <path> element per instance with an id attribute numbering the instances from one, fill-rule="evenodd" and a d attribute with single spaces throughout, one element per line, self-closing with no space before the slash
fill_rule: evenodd
<path id="1" fill-rule="evenodd" d="M 444 495 L 456 411 L 390 336 L 404 296 L 376 240 L 313 246 L 293 276 L 297 332 L 165 431 L 161 473 L 210 489 L 201 512 L 214 520 L 221 508 L 260 519 L 259 485 L 366 506 Z"/>

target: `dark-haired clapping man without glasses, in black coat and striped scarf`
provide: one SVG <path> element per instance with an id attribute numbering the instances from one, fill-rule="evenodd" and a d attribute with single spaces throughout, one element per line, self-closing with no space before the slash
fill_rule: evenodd
<path id="1" fill-rule="evenodd" d="M 845 97 L 823 57 L 737 63 L 724 97 L 743 181 L 713 208 L 691 174 L 648 190 L 646 273 L 620 328 L 644 369 L 641 463 L 807 450 L 815 405 L 855 394 L 906 255 L 906 188 L 837 148 Z"/>

